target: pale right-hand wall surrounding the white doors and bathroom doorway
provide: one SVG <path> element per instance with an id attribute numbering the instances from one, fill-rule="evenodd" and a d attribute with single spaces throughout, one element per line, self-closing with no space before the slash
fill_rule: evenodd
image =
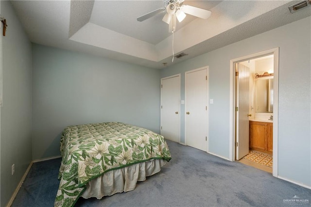
<path id="1" fill-rule="evenodd" d="M 161 70 L 161 78 L 209 66 L 209 152 L 229 158 L 230 60 L 279 47 L 278 175 L 311 186 L 311 17 Z M 181 105 L 181 142 L 185 140 Z M 274 143 L 276 144 L 276 143 Z"/>

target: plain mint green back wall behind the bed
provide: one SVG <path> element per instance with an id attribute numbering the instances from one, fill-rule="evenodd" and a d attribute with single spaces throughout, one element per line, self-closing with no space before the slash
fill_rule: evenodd
<path id="1" fill-rule="evenodd" d="M 159 133 L 160 71 L 33 44 L 33 159 L 68 125 L 121 121 Z"/>

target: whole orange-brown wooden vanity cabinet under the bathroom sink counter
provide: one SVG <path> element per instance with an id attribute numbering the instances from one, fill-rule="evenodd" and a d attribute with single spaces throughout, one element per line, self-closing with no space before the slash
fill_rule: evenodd
<path id="1" fill-rule="evenodd" d="M 249 148 L 272 154 L 273 123 L 249 121 Z"/>

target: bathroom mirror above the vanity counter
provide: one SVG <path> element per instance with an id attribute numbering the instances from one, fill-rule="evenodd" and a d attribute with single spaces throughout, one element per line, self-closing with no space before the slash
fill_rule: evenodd
<path id="1" fill-rule="evenodd" d="M 273 113 L 273 76 L 255 80 L 255 112 Z"/>

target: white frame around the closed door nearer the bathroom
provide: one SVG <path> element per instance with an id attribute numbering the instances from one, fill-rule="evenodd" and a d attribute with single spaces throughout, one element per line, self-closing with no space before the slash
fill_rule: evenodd
<path id="1" fill-rule="evenodd" d="M 206 121 L 207 121 L 207 126 L 206 126 L 206 135 L 207 135 L 207 146 L 206 146 L 206 152 L 208 153 L 209 150 L 208 150 L 208 125 L 209 125 L 209 122 L 208 122 L 208 111 L 209 111 L 209 105 L 208 105 L 208 85 L 209 85 L 209 74 L 208 74 L 208 66 L 205 66 L 205 67 L 202 67 L 202 68 L 198 68 L 198 69 L 192 69 L 192 70 L 188 70 L 185 72 L 185 144 L 187 145 L 187 133 L 186 133 L 186 119 L 187 119 L 187 116 L 186 116 L 186 109 L 187 109 L 187 100 L 186 100 L 186 93 L 187 93 L 187 73 L 191 73 L 191 72 L 195 72 L 195 71 L 199 71 L 199 70 L 203 70 L 203 69 L 207 69 L 207 83 L 206 83 L 206 91 L 207 91 L 207 96 L 206 96 L 206 104 L 207 104 L 207 110 L 206 110 Z"/>

